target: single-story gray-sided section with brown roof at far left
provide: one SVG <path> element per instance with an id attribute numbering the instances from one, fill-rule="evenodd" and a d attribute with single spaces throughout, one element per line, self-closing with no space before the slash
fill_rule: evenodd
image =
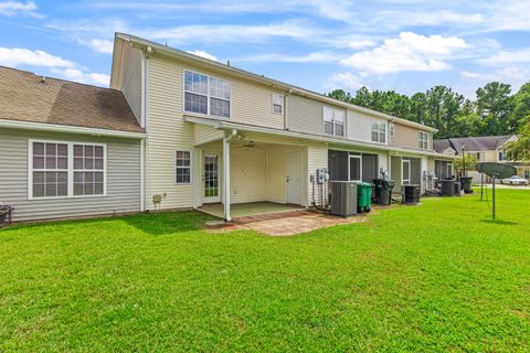
<path id="1" fill-rule="evenodd" d="M 0 202 L 14 221 L 138 212 L 144 137 L 119 90 L 0 67 Z"/>

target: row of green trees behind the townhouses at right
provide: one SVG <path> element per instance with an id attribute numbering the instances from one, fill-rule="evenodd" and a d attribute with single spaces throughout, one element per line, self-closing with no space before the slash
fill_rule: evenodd
<path id="1" fill-rule="evenodd" d="M 327 95 L 434 127 L 439 130 L 438 139 L 530 132 L 530 82 L 515 94 L 511 85 L 490 82 L 477 89 L 475 100 L 447 86 L 435 86 L 412 96 L 367 87 L 354 95 L 342 89 Z"/>

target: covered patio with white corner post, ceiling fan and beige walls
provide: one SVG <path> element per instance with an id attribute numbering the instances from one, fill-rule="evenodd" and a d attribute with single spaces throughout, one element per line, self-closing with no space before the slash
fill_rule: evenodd
<path id="1" fill-rule="evenodd" d="M 265 133 L 195 125 L 194 207 L 231 221 L 305 210 L 307 148 Z"/>

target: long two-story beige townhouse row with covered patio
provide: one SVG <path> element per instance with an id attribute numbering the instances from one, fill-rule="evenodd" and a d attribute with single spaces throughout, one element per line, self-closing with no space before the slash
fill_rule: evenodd
<path id="1" fill-rule="evenodd" d="M 361 108 L 230 65 L 117 33 L 110 87 L 146 129 L 142 210 L 274 202 L 304 207 L 335 180 L 425 188 L 431 127 Z"/>

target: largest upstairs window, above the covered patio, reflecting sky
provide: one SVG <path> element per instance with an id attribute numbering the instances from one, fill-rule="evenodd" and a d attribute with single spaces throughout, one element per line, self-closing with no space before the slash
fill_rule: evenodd
<path id="1" fill-rule="evenodd" d="M 230 118 L 230 83 L 186 71 L 184 110 Z"/>

